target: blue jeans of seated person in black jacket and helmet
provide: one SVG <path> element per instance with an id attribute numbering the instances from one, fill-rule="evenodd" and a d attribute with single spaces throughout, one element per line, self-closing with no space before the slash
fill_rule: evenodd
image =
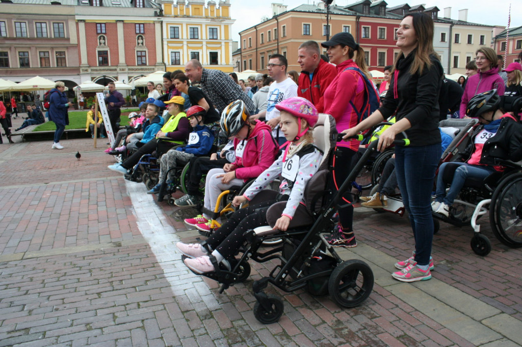
<path id="1" fill-rule="evenodd" d="M 443 176 L 444 170 L 448 164 L 460 166 L 455 170 L 452 185 L 449 187 L 449 190 L 446 194 L 446 183 L 444 183 Z M 438 169 L 435 201 L 443 202 L 446 205 L 452 205 L 455 197 L 460 192 L 462 187 L 464 187 L 466 178 L 478 178 L 483 180 L 493 172 L 495 172 L 495 169 L 492 166 L 469 165 L 468 163 L 443 163 Z"/>

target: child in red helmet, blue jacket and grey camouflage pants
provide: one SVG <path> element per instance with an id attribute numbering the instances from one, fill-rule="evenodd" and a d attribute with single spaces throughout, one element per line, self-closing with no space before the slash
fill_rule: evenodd
<path id="1" fill-rule="evenodd" d="M 158 184 L 149 190 L 148 194 L 158 194 L 161 184 L 167 177 L 167 186 L 174 182 L 174 170 L 170 168 L 185 165 L 194 156 L 207 155 L 214 142 L 214 133 L 204 125 L 207 111 L 201 106 L 192 106 L 187 110 L 187 118 L 193 131 L 188 134 L 188 143 L 178 146 L 161 156 Z"/>

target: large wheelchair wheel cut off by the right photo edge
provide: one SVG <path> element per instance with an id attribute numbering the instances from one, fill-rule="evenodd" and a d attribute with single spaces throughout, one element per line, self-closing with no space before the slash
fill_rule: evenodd
<path id="1" fill-rule="evenodd" d="M 490 224 L 506 246 L 522 247 L 522 173 L 505 177 L 491 197 Z"/>

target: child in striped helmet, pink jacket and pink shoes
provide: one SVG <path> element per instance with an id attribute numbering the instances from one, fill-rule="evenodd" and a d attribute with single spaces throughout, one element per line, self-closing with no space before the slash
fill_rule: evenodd
<path id="1" fill-rule="evenodd" d="M 221 192 L 258 177 L 274 163 L 279 148 L 272 138 L 271 128 L 264 122 L 250 120 L 249 117 L 250 114 L 241 100 L 232 102 L 223 110 L 220 125 L 227 137 L 234 140 L 235 162 L 208 172 L 204 213 L 185 219 L 185 224 L 204 232 L 210 231 L 210 214 L 216 207 Z"/>

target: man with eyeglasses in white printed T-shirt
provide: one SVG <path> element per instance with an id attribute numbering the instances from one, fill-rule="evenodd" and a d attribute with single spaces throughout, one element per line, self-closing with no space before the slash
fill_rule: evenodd
<path id="1" fill-rule="evenodd" d="M 297 96 L 297 84 L 287 77 L 288 60 L 281 54 L 273 54 L 268 60 L 268 75 L 276 80 L 270 84 L 267 95 L 267 109 L 259 112 L 251 118 L 265 118 L 267 125 L 272 128 L 272 135 L 279 144 L 287 142 L 282 132 L 279 131 L 279 110 L 276 104 L 290 97 Z"/>

